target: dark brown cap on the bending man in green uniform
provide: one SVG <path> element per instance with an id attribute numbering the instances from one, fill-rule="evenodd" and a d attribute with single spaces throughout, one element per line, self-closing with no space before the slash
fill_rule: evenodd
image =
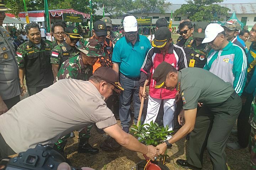
<path id="1" fill-rule="evenodd" d="M 172 70 L 172 65 L 167 62 L 161 62 L 158 67 L 156 67 L 152 79 L 156 81 L 155 88 L 160 89 L 164 86 L 167 74 Z"/>

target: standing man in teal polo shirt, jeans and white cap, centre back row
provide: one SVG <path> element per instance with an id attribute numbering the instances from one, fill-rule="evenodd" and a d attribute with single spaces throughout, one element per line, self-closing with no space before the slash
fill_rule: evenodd
<path id="1" fill-rule="evenodd" d="M 130 126 L 130 99 L 133 96 L 134 123 L 136 124 L 140 108 L 140 68 L 151 45 L 145 36 L 138 34 L 137 20 L 134 16 L 125 17 L 123 26 L 126 35 L 116 42 L 112 55 L 112 63 L 113 69 L 117 73 L 120 73 L 119 82 L 124 88 L 124 91 L 121 92 L 119 97 L 119 118 L 123 130 L 128 133 Z"/>

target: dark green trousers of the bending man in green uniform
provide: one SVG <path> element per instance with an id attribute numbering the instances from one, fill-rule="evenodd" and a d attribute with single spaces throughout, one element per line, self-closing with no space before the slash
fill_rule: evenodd
<path id="1" fill-rule="evenodd" d="M 227 101 L 216 107 L 205 104 L 197 113 L 194 130 L 190 133 L 187 162 L 202 168 L 207 147 L 213 170 L 228 170 L 225 147 L 239 113 L 241 98 L 234 92 Z"/>

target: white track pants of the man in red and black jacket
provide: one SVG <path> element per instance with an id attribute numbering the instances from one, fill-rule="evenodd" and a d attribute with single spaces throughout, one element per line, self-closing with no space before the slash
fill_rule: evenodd
<path id="1" fill-rule="evenodd" d="M 164 126 L 168 125 L 169 130 L 173 130 L 173 126 L 174 126 L 173 119 L 174 119 L 174 111 L 176 107 L 176 105 L 174 105 L 174 102 L 175 102 L 174 98 L 164 99 L 163 123 L 164 123 Z M 144 124 L 145 123 L 149 124 L 152 120 L 153 122 L 155 122 L 159 112 L 160 104 L 161 104 L 161 99 L 153 98 L 149 96 L 148 109 L 147 109 L 147 114 L 146 114 Z"/>

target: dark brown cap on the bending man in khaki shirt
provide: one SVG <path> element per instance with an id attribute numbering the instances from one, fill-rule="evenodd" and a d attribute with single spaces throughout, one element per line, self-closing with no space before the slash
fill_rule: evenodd
<path id="1" fill-rule="evenodd" d="M 97 70 L 95 70 L 93 76 L 113 84 L 118 90 L 124 90 L 123 87 L 118 85 L 119 75 L 112 68 L 100 67 Z"/>

